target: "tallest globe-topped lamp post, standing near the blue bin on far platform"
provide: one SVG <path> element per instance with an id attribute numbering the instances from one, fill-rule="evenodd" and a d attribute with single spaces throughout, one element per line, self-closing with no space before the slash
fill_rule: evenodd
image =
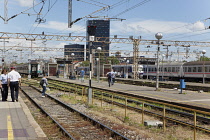
<path id="1" fill-rule="evenodd" d="M 156 39 L 158 40 L 157 48 L 157 72 L 156 72 L 156 90 L 159 88 L 159 52 L 160 52 L 160 39 L 163 37 L 161 33 L 155 34 Z"/>

